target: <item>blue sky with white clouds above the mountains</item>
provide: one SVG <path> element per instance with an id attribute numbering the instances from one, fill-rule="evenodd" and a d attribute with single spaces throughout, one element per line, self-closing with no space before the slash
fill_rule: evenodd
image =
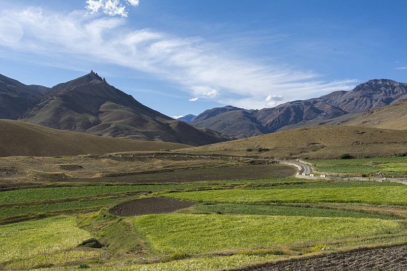
<path id="1" fill-rule="evenodd" d="M 0 0 L 0 74 L 89 73 L 169 116 L 407 82 L 407 1 Z"/>

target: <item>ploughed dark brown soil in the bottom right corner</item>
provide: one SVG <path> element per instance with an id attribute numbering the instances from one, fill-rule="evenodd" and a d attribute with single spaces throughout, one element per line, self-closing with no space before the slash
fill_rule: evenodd
<path id="1" fill-rule="evenodd" d="M 268 266 L 265 266 L 268 265 Z M 279 261 L 276 264 L 252 266 L 239 271 L 353 271 L 353 270 L 407 270 L 407 246 L 359 248 L 345 253 Z"/>

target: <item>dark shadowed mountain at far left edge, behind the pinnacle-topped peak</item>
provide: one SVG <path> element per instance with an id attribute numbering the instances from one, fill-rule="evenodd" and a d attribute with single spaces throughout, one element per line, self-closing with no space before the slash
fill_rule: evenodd
<path id="1" fill-rule="evenodd" d="M 17 119 L 41 102 L 45 86 L 24 85 L 0 74 L 0 118 Z"/>

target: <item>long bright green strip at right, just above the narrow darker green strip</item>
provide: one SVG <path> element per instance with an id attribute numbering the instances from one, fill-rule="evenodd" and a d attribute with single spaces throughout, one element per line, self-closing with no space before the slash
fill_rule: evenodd
<path id="1" fill-rule="evenodd" d="M 406 204 L 407 187 L 354 187 L 279 190 L 206 190 L 170 193 L 162 197 L 216 203 L 354 202 Z"/>

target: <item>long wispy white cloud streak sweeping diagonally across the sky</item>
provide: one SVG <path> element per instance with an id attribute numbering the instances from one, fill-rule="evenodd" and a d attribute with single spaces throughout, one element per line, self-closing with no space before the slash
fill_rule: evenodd
<path id="1" fill-rule="evenodd" d="M 57 13 L 40 8 L 0 11 L 3 24 L 0 49 L 20 54 L 21 59 L 37 55 L 52 60 L 52 65 L 72 62 L 80 65 L 84 60 L 119 65 L 175 83 L 194 97 L 190 101 L 199 99 L 244 108 L 258 109 L 272 106 L 270 103 L 349 90 L 357 82 L 351 79 L 327 82 L 312 71 L 265 65 L 224 51 L 219 53 L 222 44 L 174 37 L 151 29 L 132 29 L 125 16 L 107 17 L 97 13 L 107 8 L 109 14 L 111 8 L 113 14 L 117 11 L 114 8 L 125 7 L 123 3 L 137 5 L 138 1 L 88 0 L 86 3 L 91 12 Z M 267 101 L 271 93 L 284 98 Z"/>

